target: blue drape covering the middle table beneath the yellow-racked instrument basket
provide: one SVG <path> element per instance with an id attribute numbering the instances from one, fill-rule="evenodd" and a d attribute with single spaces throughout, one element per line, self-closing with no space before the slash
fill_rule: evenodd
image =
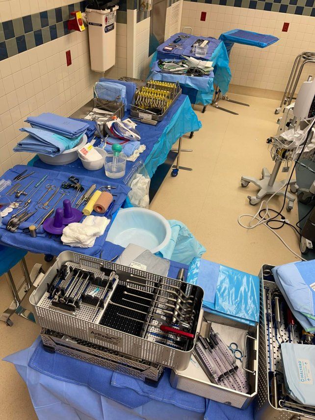
<path id="1" fill-rule="evenodd" d="M 126 117 L 128 116 L 129 115 Z M 198 120 L 196 113 L 191 107 L 189 98 L 185 95 L 179 97 L 163 120 L 157 123 L 156 126 L 142 124 L 138 121 L 136 121 L 136 123 L 136 129 L 141 136 L 140 144 L 145 144 L 146 146 L 146 150 L 140 154 L 138 159 L 145 162 L 145 167 L 150 178 L 157 170 L 157 166 L 165 161 L 170 149 L 179 137 L 190 131 L 198 131 L 202 127 L 201 122 Z M 95 146 L 98 144 L 99 141 L 95 143 Z M 132 167 L 138 162 L 138 159 L 134 162 L 126 162 L 125 176 L 130 173 Z M 106 183 L 109 185 L 112 180 L 105 176 L 104 168 L 99 169 L 98 171 L 88 171 L 83 168 L 79 158 L 68 165 L 48 165 L 36 157 L 31 160 L 30 164 L 38 168 L 57 172 L 71 172 L 72 175 L 76 174 L 79 177 L 86 176 L 103 179 L 104 185 Z M 116 179 L 115 182 L 123 184 L 124 178 Z"/>

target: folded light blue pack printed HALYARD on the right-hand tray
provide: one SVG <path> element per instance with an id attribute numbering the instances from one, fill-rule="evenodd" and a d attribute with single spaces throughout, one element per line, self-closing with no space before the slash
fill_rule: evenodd
<path id="1" fill-rule="evenodd" d="M 315 406 L 315 346 L 281 344 L 281 359 L 288 394 L 295 401 Z"/>

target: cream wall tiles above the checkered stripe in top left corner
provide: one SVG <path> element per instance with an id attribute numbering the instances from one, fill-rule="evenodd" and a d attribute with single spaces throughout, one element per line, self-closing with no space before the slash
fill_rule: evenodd
<path id="1" fill-rule="evenodd" d="M 74 0 L 0 0 L 0 21 L 39 13 L 55 7 L 76 3 Z"/>

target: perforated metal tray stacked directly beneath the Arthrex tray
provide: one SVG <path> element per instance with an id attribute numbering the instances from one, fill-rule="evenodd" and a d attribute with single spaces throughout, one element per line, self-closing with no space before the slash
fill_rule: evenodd
<path id="1" fill-rule="evenodd" d="M 117 370 L 143 381 L 157 382 L 164 368 L 143 360 L 132 360 L 127 355 L 106 347 L 68 337 L 46 328 L 41 330 L 41 338 L 46 350 L 71 356 L 83 362 Z"/>

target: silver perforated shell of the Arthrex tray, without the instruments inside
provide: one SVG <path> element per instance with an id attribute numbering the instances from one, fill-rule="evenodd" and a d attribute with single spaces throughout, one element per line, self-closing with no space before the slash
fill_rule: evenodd
<path id="1" fill-rule="evenodd" d="M 53 308 L 51 303 L 48 302 L 48 293 L 46 292 L 47 283 L 52 281 L 57 269 L 60 269 L 61 265 L 67 262 L 79 264 L 78 266 L 82 269 L 95 272 L 97 275 L 100 275 L 101 267 L 108 268 L 116 272 L 119 277 L 119 284 L 126 283 L 131 275 L 137 276 L 138 278 L 143 279 L 143 285 L 138 286 L 139 290 L 142 291 L 152 291 L 154 289 L 150 280 L 157 283 L 162 282 L 169 286 L 184 287 L 184 292 L 186 294 L 189 294 L 194 290 L 194 293 L 196 294 L 193 306 L 195 316 L 190 331 L 194 334 L 194 339 L 187 341 L 187 346 L 182 350 L 157 342 L 156 340 L 158 339 L 155 334 L 147 335 L 148 338 L 138 337 L 124 331 L 100 325 L 96 322 L 91 322 L 89 320 L 90 314 L 82 316 L 82 314 L 79 314 L 78 312 L 73 315 Z M 167 287 L 168 286 L 162 286 L 161 294 L 169 297 Z M 185 369 L 188 366 L 193 347 L 197 340 L 197 333 L 201 328 L 203 312 L 202 300 L 203 289 L 198 286 L 71 251 L 62 252 L 58 256 L 56 262 L 30 296 L 30 303 L 33 306 L 36 321 L 42 328 L 48 328 L 70 337 L 76 337 L 83 341 L 90 341 L 101 346 L 106 346 L 139 360 L 147 360 L 157 363 L 158 365 L 176 369 Z M 88 309 L 82 309 L 80 311 L 88 311 Z M 99 322 L 102 319 L 103 314 L 104 312 L 101 312 L 96 321 Z"/>

